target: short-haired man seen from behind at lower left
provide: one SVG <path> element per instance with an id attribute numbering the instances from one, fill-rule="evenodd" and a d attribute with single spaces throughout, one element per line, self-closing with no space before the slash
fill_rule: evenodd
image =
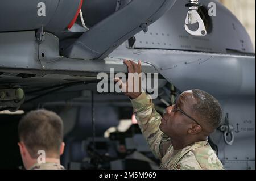
<path id="1" fill-rule="evenodd" d="M 63 170 L 63 121 L 52 111 L 36 110 L 23 116 L 18 125 L 20 154 L 30 170 Z"/>

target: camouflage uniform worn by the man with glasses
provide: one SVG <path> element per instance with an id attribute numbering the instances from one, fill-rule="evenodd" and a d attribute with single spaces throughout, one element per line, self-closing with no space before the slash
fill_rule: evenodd
<path id="1" fill-rule="evenodd" d="M 131 100 L 135 117 L 154 155 L 161 160 L 160 169 L 224 169 L 207 141 L 195 142 L 175 150 L 171 140 L 159 129 L 162 117 L 145 93 Z"/>

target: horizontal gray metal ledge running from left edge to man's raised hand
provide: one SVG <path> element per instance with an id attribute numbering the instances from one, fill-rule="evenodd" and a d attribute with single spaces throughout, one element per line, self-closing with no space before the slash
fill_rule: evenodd
<path id="1" fill-rule="evenodd" d="M 121 58 L 105 60 L 81 60 L 60 56 L 59 39 L 44 33 L 45 40 L 38 43 L 34 31 L 0 33 L 0 71 L 31 74 L 87 75 L 106 72 L 127 72 Z M 10 48 L 11 47 L 11 48 Z M 150 64 L 143 64 L 144 71 L 155 72 Z M 19 71 L 17 71 L 19 70 Z"/>

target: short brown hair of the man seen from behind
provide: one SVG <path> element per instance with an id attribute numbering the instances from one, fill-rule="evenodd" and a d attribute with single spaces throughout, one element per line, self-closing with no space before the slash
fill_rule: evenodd
<path id="1" fill-rule="evenodd" d="M 47 153 L 59 156 L 63 142 L 63 121 L 52 111 L 30 111 L 19 122 L 18 136 L 32 158 L 38 157 L 38 150 L 46 151 L 46 156 Z"/>

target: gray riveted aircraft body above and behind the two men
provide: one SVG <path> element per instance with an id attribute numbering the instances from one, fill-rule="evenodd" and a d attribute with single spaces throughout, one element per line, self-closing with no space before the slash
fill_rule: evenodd
<path id="1" fill-rule="evenodd" d="M 10 7 L 9 2 L 3 5 Z M 74 5 L 60 1 L 63 7 L 56 1 L 40 1 L 52 5 L 42 21 L 31 15 L 36 13 L 37 2 L 28 3 L 31 11 L 23 16 L 11 14 L 15 23 L 1 16 L 8 9 L 0 6 L 0 89 L 19 85 L 25 94 L 32 92 L 17 108 L 77 98 L 86 89 L 95 90 L 96 84 L 77 85 L 26 102 L 44 87 L 97 81 L 97 74 L 109 73 L 110 68 L 127 73 L 123 60 L 142 60 L 145 73 L 160 74 L 163 83 L 159 89 L 170 83 L 177 94 L 196 88 L 214 95 L 223 109 L 222 127 L 210 136 L 218 157 L 225 169 L 255 169 L 255 52 L 245 28 L 220 2 L 202 2 L 201 15 L 208 12 L 210 2 L 217 8 L 217 16 L 204 16 L 208 33 L 203 37 L 189 35 L 184 29 L 185 0 L 122 1 L 120 7 L 112 1 L 111 6 L 100 7 L 109 10 L 106 16 L 89 16 L 90 30 L 82 32 L 76 31 L 76 27 L 81 30 L 78 22 L 73 31 L 67 30 L 80 1 Z M 98 10 L 96 2 L 88 6 Z M 63 18 L 69 7 L 72 9 Z M 82 6 L 82 10 L 92 11 L 89 7 Z M 23 11 L 20 8 L 18 12 Z M 43 40 L 38 40 L 38 31 Z M 0 102 L 0 108 L 5 104 Z"/>

